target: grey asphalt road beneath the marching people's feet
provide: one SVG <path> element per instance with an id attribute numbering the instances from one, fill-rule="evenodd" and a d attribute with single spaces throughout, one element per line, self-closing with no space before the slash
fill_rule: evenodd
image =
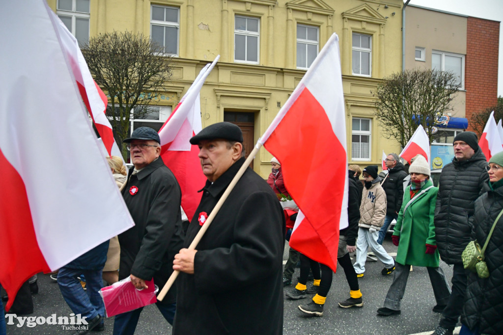
<path id="1" fill-rule="evenodd" d="M 388 235 L 384 241 L 388 253 L 394 256 L 396 246 L 391 243 Z M 288 246 L 285 247 L 284 260 L 288 257 Z M 441 262 L 447 279 L 450 283 L 452 268 Z M 402 300 L 401 314 L 388 317 L 378 316 L 376 310 L 382 307 L 384 297 L 392 281 L 392 275 L 382 276 L 382 263 L 368 261 L 365 276 L 359 279 L 360 290 L 363 293 L 364 306 L 362 308 L 344 309 L 338 306 L 338 301 L 349 297 L 349 286 L 344 276 L 344 271 L 337 272 L 333 277 L 332 287 L 326 299 L 324 315 L 322 317 L 309 317 L 302 313 L 297 306 L 307 303 L 308 299 L 288 300 L 284 306 L 284 334 L 387 334 L 403 335 L 433 331 L 441 315 L 434 313 L 435 305 L 433 290 L 426 268 L 414 267 L 409 275 L 407 288 Z M 293 289 L 296 284 L 298 269 L 294 274 L 294 283 L 286 287 Z M 35 311 L 30 316 L 48 317 L 53 313 L 58 316 L 68 316 L 70 308 L 63 300 L 56 282 L 49 276 L 40 274 L 38 279 L 39 293 L 33 295 Z M 261 322 L 257 320 L 257 322 Z M 103 335 L 112 334 L 113 317 L 105 320 Z M 136 334 L 171 334 L 169 325 L 161 316 L 155 305 L 143 309 Z M 7 325 L 8 334 L 69 334 L 60 325 L 42 324 L 35 327 L 26 325 L 18 327 L 17 324 Z M 91 332 L 94 333 L 94 332 Z"/>

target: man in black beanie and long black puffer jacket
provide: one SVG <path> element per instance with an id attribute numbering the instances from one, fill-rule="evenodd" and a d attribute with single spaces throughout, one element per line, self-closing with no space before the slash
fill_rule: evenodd
<path id="1" fill-rule="evenodd" d="M 439 181 L 435 208 L 435 235 L 440 258 L 453 264 L 452 293 L 442 312 L 440 324 L 432 333 L 452 334 L 465 300 L 466 273 L 461 253 L 470 241 L 473 206 L 479 195 L 489 189 L 485 171 L 487 160 L 477 143 L 477 135 L 465 131 L 454 138 L 454 158 L 444 166 Z M 435 311 L 442 306 L 435 306 Z"/>

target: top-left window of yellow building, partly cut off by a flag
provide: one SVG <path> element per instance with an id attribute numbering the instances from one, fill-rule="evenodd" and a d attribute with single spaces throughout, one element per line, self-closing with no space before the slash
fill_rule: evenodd
<path id="1" fill-rule="evenodd" d="M 89 42 L 89 18 L 91 0 L 58 0 L 56 14 L 77 39 L 78 46 Z"/>

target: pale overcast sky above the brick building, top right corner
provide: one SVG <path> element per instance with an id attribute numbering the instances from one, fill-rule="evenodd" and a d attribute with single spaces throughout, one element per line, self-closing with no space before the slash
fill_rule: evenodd
<path id="1" fill-rule="evenodd" d="M 405 2 L 405 1 L 404 1 Z M 503 21 L 502 0 L 411 0 L 409 5 L 434 8 L 445 12 L 481 19 Z M 406 18 L 405 18 L 406 19 Z M 499 25 L 498 96 L 503 96 L 503 25 Z"/>

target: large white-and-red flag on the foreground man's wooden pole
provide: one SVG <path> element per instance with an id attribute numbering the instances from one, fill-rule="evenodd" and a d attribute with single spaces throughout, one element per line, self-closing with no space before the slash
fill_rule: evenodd
<path id="1" fill-rule="evenodd" d="M 281 161 L 285 187 L 300 208 L 290 246 L 333 271 L 339 229 L 348 226 L 345 120 L 333 34 L 259 140 Z"/>

